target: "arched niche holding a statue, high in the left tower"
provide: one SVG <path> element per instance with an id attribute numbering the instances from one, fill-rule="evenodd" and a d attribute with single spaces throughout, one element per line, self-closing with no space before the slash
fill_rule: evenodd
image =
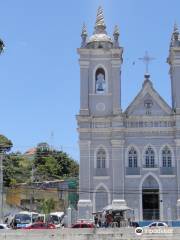
<path id="1" fill-rule="evenodd" d="M 95 75 L 95 91 L 96 93 L 104 93 L 106 90 L 106 78 L 103 68 L 98 68 Z"/>

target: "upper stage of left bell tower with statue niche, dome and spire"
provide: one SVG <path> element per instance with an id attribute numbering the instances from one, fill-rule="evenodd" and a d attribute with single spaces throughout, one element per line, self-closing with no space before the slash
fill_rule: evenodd
<path id="1" fill-rule="evenodd" d="M 119 30 L 114 39 L 106 32 L 103 10 L 98 8 L 93 35 L 82 29 L 80 55 L 80 115 L 108 116 L 121 113 L 121 63 Z"/>

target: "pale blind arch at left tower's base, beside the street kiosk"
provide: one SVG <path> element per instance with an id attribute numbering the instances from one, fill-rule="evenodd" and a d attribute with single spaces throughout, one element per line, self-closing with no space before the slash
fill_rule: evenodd
<path id="1" fill-rule="evenodd" d="M 108 193 L 104 187 L 100 187 L 95 194 L 96 212 L 102 211 L 108 205 Z"/>

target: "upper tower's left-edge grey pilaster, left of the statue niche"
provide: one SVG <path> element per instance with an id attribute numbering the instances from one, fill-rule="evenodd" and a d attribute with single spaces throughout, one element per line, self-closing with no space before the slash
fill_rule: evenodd
<path id="1" fill-rule="evenodd" d="M 80 60 L 80 115 L 89 115 L 89 62 Z"/>

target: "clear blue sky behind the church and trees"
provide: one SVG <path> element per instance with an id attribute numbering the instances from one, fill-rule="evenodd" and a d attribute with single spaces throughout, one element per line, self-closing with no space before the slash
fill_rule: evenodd
<path id="1" fill-rule="evenodd" d="M 6 44 L 0 56 L 0 133 L 13 141 L 14 151 L 45 141 L 78 160 L 76 49 L 83 22 L 92 34 L 99 5 L 108 34 L 115 24 L 120 28 L 122 108 L 142 86 L 138 58 L 146 50 L 156 58 L 150 65 L 153 85 L 171 104 L 166 58 L 174 22 L 180 25 L 179 0 L 0 0 L 0 38 Z"/>

